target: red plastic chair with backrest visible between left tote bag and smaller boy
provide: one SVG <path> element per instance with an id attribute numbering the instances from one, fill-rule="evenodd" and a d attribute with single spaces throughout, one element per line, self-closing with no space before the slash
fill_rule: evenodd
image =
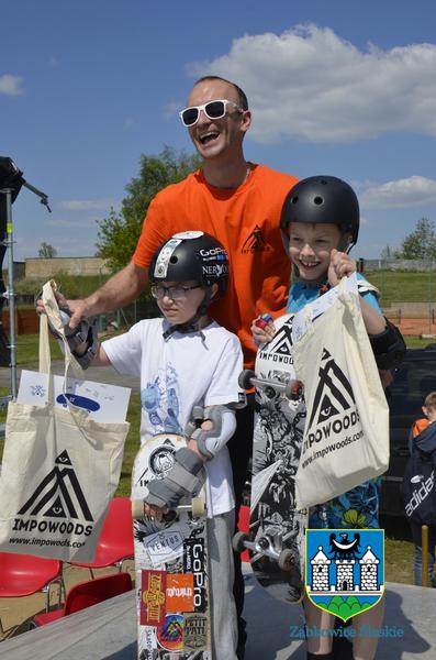
<path id="1" fill-rule="evenodd" d="M 133 559 L 133 553 L 132 503 L 128 497 L 114 497 L 109 505 L 94 560 L 71 564 L 89 569 L 93 578 L 93 569 L 116 565 L 121 571 L 124 560 Z"/>

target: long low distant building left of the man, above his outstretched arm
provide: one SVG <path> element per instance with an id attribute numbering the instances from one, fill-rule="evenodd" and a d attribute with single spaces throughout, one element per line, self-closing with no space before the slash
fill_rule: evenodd
<path id="1" fill-rule="evenodd" d="M 35 256 L 25 260 L 25 277 L 52 277 L 57 273 L 68 275 L 109 275 L 111 271 L 100 256 Z"/>

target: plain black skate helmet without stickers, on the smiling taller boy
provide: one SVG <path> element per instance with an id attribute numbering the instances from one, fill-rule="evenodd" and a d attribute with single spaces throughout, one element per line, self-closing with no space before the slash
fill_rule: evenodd
<path id="1" fill-rule="evenodd" d="M 351 237 L 349 250 L 357 242 L 359 217 L 359 202 L 351 186 L 335 176 L 311 176 L 288 193 L 281 210 L 280 229 L 287 238 L 291 222 L 337 224 Z"/>

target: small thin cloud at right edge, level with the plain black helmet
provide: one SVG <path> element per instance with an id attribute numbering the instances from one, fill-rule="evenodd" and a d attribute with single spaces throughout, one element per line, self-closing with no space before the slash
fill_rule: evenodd
<path id="1" fill-rule="evenodd" d="M 436 204 L 436 180 L 424 176 L 369 185 L 359 194 L 366 209 L 398 209 Z"/>

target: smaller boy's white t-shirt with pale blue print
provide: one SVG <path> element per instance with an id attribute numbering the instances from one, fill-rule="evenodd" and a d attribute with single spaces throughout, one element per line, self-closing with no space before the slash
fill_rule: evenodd
<path id="1" fill-rule="evenodd" d="M 141 377 L 141 442 L 157 433 L 182 433 L 193 406 L 238 403 L 243 353 L 238 338 L 213 321 L 202 334 L 174 332 L 166 341 L 165 319 L 146 319 L 103 342 L 122 374 Z M 235 506 L 227 448 L 205 463 L 208 516 Z"/>

